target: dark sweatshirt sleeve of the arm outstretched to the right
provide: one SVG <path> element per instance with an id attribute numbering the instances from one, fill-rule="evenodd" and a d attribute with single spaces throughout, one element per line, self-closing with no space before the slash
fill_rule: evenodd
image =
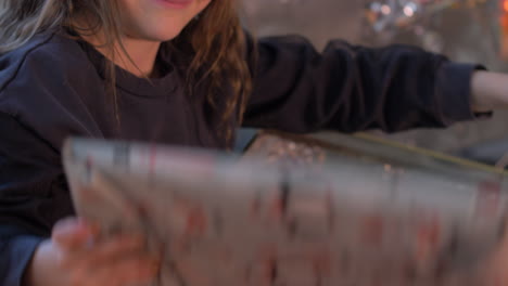
<path id="1" fill-rule="evenodd" d="M 339 40 L 318 53 L 299 36 L 262 38 L 249 50 L 257 61 L 251 62 L 246 127 L 395 132 L 475 118 L 470 82 L 479 65 L 415 47 L 370 49 Z"/>

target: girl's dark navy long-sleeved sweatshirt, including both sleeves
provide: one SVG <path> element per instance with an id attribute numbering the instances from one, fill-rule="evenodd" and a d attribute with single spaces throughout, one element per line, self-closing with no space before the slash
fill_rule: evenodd
<path id="1" fill-rule="evenodd" d="M 262 38 L 255 47 L 249 50 L 257 63 L 246 60 L 256 72 L 247 127 L 393 132 L 474 118 L 475 65 L 402 46 L 330 41 L 319 53 L 297 36 Z M 186 94 L 178 58 L 161 49 L 163 73 L 150 81 L 117 67 L 113 101 L 106 60 L 65 32 L 37 35 L 0 55 L 0 285 L 20 286 L 37 245 L 75 213 L 61 162 L 67 136 L 226 147 L 209 121 L 219 112 Z"/>

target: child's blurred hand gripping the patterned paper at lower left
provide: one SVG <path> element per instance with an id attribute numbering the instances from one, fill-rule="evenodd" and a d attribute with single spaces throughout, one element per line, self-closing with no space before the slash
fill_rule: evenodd
<path id="1" fill-rule="evenodd" d="M 97 242 L 97 231 L 77 219 L 59 222 L 26 272 L 25 286 L 122 286 L 151 282 L 158 259 L 144 251 L 140 237 Z"/>

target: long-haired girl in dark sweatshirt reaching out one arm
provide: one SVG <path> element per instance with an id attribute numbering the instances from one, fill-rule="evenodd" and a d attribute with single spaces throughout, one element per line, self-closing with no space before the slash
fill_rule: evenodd
<path id="1" fill-rule="evenodd" d="M 237 5 L 1 2 L 0 285 L 138 285 L 157 271 L 140 237 L 98 240 L 93 225 L 62 220 L 74 216 L 68 135 L 228 148 L 241 125 L 399 131 L 508 105 L 508 76 L 410 47 L 255 41 Z"/>

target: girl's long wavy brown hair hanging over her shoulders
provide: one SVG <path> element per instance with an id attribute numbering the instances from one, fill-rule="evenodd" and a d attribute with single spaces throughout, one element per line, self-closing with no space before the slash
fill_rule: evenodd
<path id="1" fill-rule="evenodd" d="M 239 0 L 212 0 L 176 39 L 163 46 L 189 55 L 186 66 L 188 94 L 191 96 L 196 93 L 196 87 L 206 83 L 206 103 L 220 118 L 216 130 L 227 141 L 232 139 L 233 122 L 239 125 L 242 120 L 247 94 L 252 90 L 239 4 Z M 66 27 L 79 35 L 101 31 L 105 39 L 101 44 L 114 56 L 118 47 L 123 49 L 119 11 L 116 0 L 2 0 L 0 53 L 25 44 L 38 32 Z M 77 18 L 86 18 L 87 28 L 76 25 Z M 111 56 L 110 60 L 109 80 L 118 116 L 114 60 Z M 225 90 L 225 84 L 231 90 Z"/>

